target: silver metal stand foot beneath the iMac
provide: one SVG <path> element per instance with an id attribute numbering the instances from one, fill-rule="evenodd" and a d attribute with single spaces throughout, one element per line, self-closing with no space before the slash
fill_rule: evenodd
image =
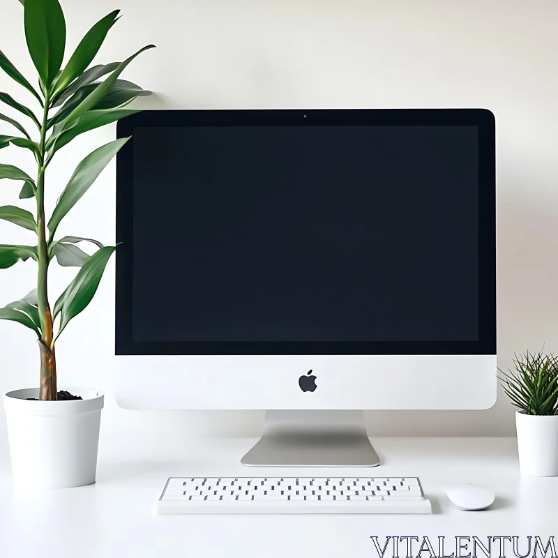
<path id="1" fill-rule="evenodd" d="M 377 467 L 363 411 L 266 411 L 247 467 Z"/>

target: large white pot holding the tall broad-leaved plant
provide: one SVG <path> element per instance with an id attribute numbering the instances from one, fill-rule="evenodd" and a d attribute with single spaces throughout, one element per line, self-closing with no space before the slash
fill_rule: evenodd
<path id="1" fill-rule="evenodd" d="M 68 388 L 82 400 L 27 401 L 38 388 L 4 395 L 16 486 L 70 488 L 95 482 L 105 394 Z"/>

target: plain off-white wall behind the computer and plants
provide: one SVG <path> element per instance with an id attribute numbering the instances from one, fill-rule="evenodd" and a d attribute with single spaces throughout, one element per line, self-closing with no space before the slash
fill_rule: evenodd
<path id="1" fill-rule="evenodd" d="M 68 43 L 119 6 L 98 61 L 123 59 L 146 43 L 124 77 L 152 89 L 151 108 L 488 107 L 497 117 L 499 365 L 512 352 L 558 349 L 557 226 L 558 2 L 555 0 L 62 0 Z M 1 0 L 0 49 L 27 75 L 22 8 Z M 34 82 L 33 78 L 33 82 Z M 0 76 L 0 90 L 32 103 Z M 0 133 L 8 133 L 1 125 Z M 47 176 L 50 207 L 77 162 L 114 137 L 82 136 Z M 63 153 L 63 154 L 62 154 Z M 14 148 L 2 163 L 29 168 Z M 158 188 L 173 202 L 173 185 Z M 0 183 L 0 204 L 17 202 Z M 31 202 L 25 202 L 29 209 Z M 114 165 L 100 177 L 60 234 L 114 241 Z M 31 233 L 0 223 L 3 243 Z M 53 266 L 56 269 L 56 266 Z M 56 269 L 56 293 L 74 269 Z M 33 262 L 0 272 L 0 305 L 33 287 Z M 112 399 L 114 262 L 96 300 L 59 345 L 59 383 L 108 395 L 108 432 L 167 429 L 201 435 L 256 435 L 262 412 L 127 412 Z M 0 391 L 38 382 L 33 333 L 0 322 Z M 153 382 L 157 382 L 156 370 Z M 370 412 L 372 435 L 511 435 L 513 412 L 502 394 L 485 412 Z M 4 436 L 3 416 L 0 436 Z"/>

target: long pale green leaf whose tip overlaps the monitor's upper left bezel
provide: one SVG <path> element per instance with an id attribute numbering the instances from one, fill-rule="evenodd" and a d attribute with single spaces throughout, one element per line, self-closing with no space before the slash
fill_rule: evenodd
<path id="1" fill-rule="evenodd" d="M 99 149 L 93 151 L 93 153 L 89 153 L 89 155 L 77 165 L 68 185 L 64 188 L 62 195 L 59 197 L 58 203 L 48 223 L 51 237 L 54 236 L 56 228 L 63 217 L 66 216 L 66 213 L 68 213 L 81 199 L 82 195 L 86 193 L 97 176 L 99 176 L 100 172 L 110 163 L 110 160 L 129 139 L 129 137 L 123 137 L 120 140 L 114 140 L 114 142 L 103 145 L 99 147 Z"/>

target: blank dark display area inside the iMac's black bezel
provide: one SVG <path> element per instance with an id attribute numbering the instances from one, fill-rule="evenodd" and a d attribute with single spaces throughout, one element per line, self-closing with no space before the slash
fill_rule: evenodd
<path id="1" fill-rule="evenodd" d="M 478 341 L 478 149 L 477 126 L 134 128 L 131 341 Z"/>

